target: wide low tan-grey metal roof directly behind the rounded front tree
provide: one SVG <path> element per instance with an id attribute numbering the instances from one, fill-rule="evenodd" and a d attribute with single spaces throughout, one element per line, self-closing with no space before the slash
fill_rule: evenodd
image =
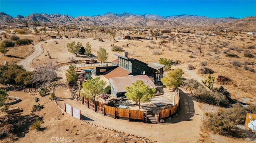
<path id="1" fill-rule="evenodd" d="M 150 88 L 156 88 L 155 84 L 152 82 L 152 80 L 150 80 L 147 75 L 109 78 L 110 84 L 112 85 L 116 93 L 126 92 L 125 87 L 132 86 L 132 83 L 135 83 L 136 80 L 142 80 Z"/>

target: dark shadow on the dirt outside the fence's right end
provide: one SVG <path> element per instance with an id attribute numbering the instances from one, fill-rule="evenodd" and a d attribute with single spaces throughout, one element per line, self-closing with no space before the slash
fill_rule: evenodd
<path id="1" fill-rule="evenodd" d="M 180 90 L 180 110 L 178 114 L 173 116 L 170 120 L 165 120 L 164 123 L 178 123 L 180 121 L 191 121 L 195 115 L 194 102 L 192 97 L 188 96 Z"/>

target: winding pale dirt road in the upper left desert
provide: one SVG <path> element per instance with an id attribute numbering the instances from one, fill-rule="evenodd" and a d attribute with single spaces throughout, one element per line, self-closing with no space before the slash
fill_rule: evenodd
<path id="1" fill-rule="evenodd" d="M 44 42 L 50 42 L 53 40 L 56 40 L 56 39 L 50 39 L 50 40 L 43 41 L 43 42 L 36 44 L 34 52 L 31 55 L 29 55 L 26 59 L 21 60 L 18 65 L 23 65 L 23 67 L 24 67 L 24 69 L 26 69 L 26 71 L 33 71 L 34 69 L 30 66 L 30 64 L 32 63 L 32 61 L 34 59 L 36 59 L 36 57 L 38 57 L 42 54 L 42 52 L 43 52 L 42 44 L 44 44 Z"/>

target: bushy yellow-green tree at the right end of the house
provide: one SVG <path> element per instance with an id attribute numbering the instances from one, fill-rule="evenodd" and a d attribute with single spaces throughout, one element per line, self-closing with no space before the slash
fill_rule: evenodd
<path id="1" fill-rule="evenodd" d="M 182 84 L 182 69 L 177 68 L 169 71 L 166 77 L 161 78 L 161 81 L 169 88 L 177 88 Z"/>

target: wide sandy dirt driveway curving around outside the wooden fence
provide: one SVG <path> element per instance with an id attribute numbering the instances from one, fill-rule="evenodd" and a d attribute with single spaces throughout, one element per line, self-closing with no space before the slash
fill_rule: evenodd
<path id="1" fill-rule="evenodd" d="M 85 105 L 70 99 L 69 91 L 57 92 L 58 104 L 64 108 L 64 102 L 81 110 L 85 120 L 96 125 L 111 129 L 132 133 L 137 136 L 147 137 L 158 143 L 169 142 L 195 142 L 199 139 L 202 112 L 197 102 L 194 102 L 186 92 L 180 90 L 180 110 L 176 116 L 164 123 L 146 124 L 128 122 L 122 119 L 114 119 L 95 113 Z M 193 125 L 193 127 L 191 127 Z M 184 137 L 186 135 L 186 137 Z"/>

